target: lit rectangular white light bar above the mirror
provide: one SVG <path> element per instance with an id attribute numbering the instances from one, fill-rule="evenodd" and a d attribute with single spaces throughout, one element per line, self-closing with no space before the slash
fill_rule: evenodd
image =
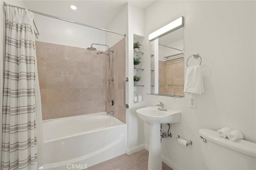
<path id="1" fill-rule="evenodd" d="M 168 33 L 171 33 L 177 29 L 180 29 L 182 27 L 184 27 L 184 17 L 183 16 L 168 23 L 167 25 L 161 27 L 160 29 L 152 32 L 150 35 L 148 35 L 148 40 L 153 41 L 155 39 L 158 39 Z"/>

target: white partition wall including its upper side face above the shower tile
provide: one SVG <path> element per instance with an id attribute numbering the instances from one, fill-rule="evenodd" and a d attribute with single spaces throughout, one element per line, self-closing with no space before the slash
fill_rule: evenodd
<path id="1" fill-rule="evenodd" d="M 126 109 L 128 153 L 131 153 L 130 149 L 144 144 L 144 123 L 136 113 L 136 109 L 144 104 L 133 104 L 133 36 L 136 34 L 137 37 L 143 37 L 145 35 L 144 27 L 144 10 L 130 3 L 120 10 L 107 27 L 111 31 L 126 33 L 126 76 L 129 78 L 126 91 L 129 104 L 129 109 Z M 122 38 L 123 36 L 106 32 L 106 44 L 110 47 Z"/>

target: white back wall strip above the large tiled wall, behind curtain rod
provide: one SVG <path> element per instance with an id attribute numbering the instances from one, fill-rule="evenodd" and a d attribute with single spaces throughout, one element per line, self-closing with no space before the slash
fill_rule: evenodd
<path id="1" fill-rule="evenodd" d="M 36 41 L 87 48 L 92 43 L 105 44 L 105 31 L 35 14 L 40 35 Z M 85 23 L 86 24 L 86 23 Z M 94 46 L 105 51 L 105 47 Z"/>

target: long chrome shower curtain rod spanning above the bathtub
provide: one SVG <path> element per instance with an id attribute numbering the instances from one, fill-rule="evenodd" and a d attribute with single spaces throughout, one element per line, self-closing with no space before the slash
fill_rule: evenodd
<path id="1" fill-rule="evenodd" d="M 16 7 L 16 8 L 20 8 L 20 9 L 26 9 L 26 8 L 22 8 L 22 7 L 19 7 L 19 6 L 14 6 L 14 5 L 6 4 L 5 2 L 4 2 L 4 6 Z M 76 22 L 76 21 L 72 21 L 72 20 L 67 20 L 67 19 L 64 19 L 64 18 L 60 18 L 60 17 L 44 14 L 44 13 L 41 13 L 41 12 L 29 10 L 29 9 L 28 9 L 28 11 L 33 12 L 34 14 L 41 15 L 41 16 L 55 18 L 55 19 L 58 19 L 58 20 L 67 21 L 67 22 L 78 24 L 78 25 L 83 25 L 83 26 L 86 26 L 86 27 L 90 27 L 90 28 L 94 28 L 94 29 L 99 29 L 99 30 L 102 30 L 102 31 L 106 31 L 106 32 L 110 32 L 110 33 L 114 33 L 114 34 L 118 34 L 118 35 L 123 35 L 124 37 L 126 37 L 126 34 L 116 33 L 116 32 L 110 31 L 108 29 L 94 27 L 94 26 L 87 25 L 87 24 L 84 24 L 84 23 L 80 23 L 80 22 Z"/>

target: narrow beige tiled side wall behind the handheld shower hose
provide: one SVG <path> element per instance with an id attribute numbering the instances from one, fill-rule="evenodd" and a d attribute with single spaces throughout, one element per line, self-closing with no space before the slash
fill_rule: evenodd
<path id="1" fill-rule="evenodd" d="M 112 99 L 115 102 L 114 106 L 110 106 L 108 102 L 108 57 L 106 59 L 106 111 L 114 111 L 114 117 L 125 123 L 126 108 L 124 107 L 124 79 L 125 79 L 125 38 L 113 45 L 111 50 L 114 50 L 113 56 L 111 53 L 112 77 L 114 82 L 111 83 L 110 89 Z"/>

